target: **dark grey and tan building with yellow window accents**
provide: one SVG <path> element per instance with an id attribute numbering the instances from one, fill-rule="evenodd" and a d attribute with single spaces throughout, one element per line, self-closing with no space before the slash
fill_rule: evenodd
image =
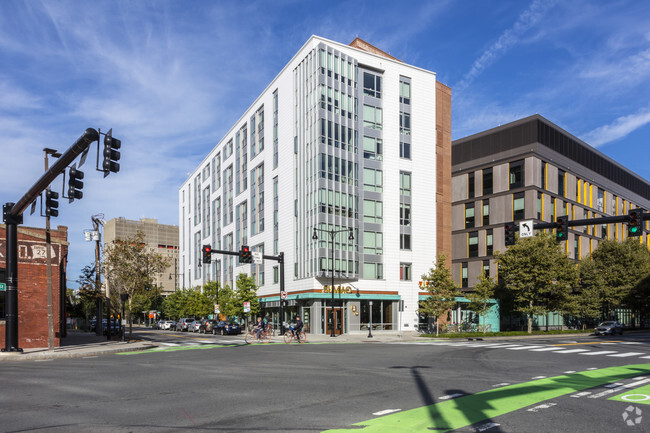
<path id="1" fill-rule="evenodd" d="M 647 180 L 539 115 L 455 140 L 452 190 L 452 273 L 463 290 L 471 290 L 483 270 L 496 275 L 494 253 L 505 250 L 507 222 L 650 209 Z M 626 236 L 623 223 L 571 227 L 564 248 L 580 259 L 602 239 Z M 647 235 L 642 241 L 650 245 Z M 459 305 L 458 314 L 469 313 Z"/>

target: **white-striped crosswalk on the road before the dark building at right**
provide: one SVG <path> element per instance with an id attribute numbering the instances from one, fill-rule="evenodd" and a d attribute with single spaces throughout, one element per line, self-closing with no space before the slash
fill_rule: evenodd
<path id="1" fill-rule="evenodd" d="M 650 345 L 647 352 L 632 352 L 626 350 L 630 345 L 635 345 L 634 349 L 645 349 L 639 347 L 644 343 L 635 341 L 621 341 L 621 342 L 603 342 L 603 343 L 585 343 L 587 345 L 603 345 L 607 344 L 608 350 L 601 350 L 603 348 L 595 347 L 575 347 L 579 343 L 558 344 L 558 345 L 544 345 L 544 344 L 513 344 L 513 343 L 483 343 L 483 342 L 455 342 L 455 341 L 431 341 L 431 342 L 404 342 L 395 344 L 418 344 L 430 346 L 448 346 L 453 348 L 482 348 L 482 349 L 503 349 L 503 350 L 517 350 L 529 352 L 550 352 L 559 355 L 582 355 L 582 356 L 605 356 L 612 358 L 639 358 L 650 359 Z M 616 345 L 618 347 L 612 347 Z M 620 350 L 611 350 L 619 349 Z M 630 347 L 631 349 L 631 347 Z"/>

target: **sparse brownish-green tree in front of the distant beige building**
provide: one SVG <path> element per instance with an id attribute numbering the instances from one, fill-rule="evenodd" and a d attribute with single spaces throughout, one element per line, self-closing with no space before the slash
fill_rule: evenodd
<path id="1" fill-rule="evenodd" d="M 116 239 L 104 250 L 105 279 L 113 294 L 127 294 L 126 314 L 129 320 L 129 336 L 133 332 L 133 297 L 142 294 L 154 284 L 154 276 L 169 266 L 169 259 L 145 245 L 145 234 L 138 231 L 135 236 Z M 119 297 L 117 298 L 119 299 Z M 115 301 L 111 302 L 115 304 Z"/>

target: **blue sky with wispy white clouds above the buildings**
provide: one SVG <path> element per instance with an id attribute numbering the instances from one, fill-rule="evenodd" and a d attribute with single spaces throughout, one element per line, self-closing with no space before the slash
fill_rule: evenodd
<path id="1" fill-rule="evenodd" d="M 95 171 L 91 146 L 84 198 L 51 223 L 68 227 L 74 287 L 91 216 L 177 225 L 189 173 L 311 35 L 434 71 L 453 139 L 540 114 L 650 179 L 649 23 L 638 0 L 2 0 L 0 201 L 42 176 L 43 148 L 112 128 L 120 172 Z M 23 225 L 45 227 L 38 206 Z"/>

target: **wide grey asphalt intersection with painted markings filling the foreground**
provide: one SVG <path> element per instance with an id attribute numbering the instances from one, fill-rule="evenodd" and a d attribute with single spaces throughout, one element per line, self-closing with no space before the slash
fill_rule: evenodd
<path id="1" fill-rule="evenodd" d="M 650 431 L 646 335 L 250 346 L 147 335 L 166 344 L 5 363 L 0 431 Z"/>

